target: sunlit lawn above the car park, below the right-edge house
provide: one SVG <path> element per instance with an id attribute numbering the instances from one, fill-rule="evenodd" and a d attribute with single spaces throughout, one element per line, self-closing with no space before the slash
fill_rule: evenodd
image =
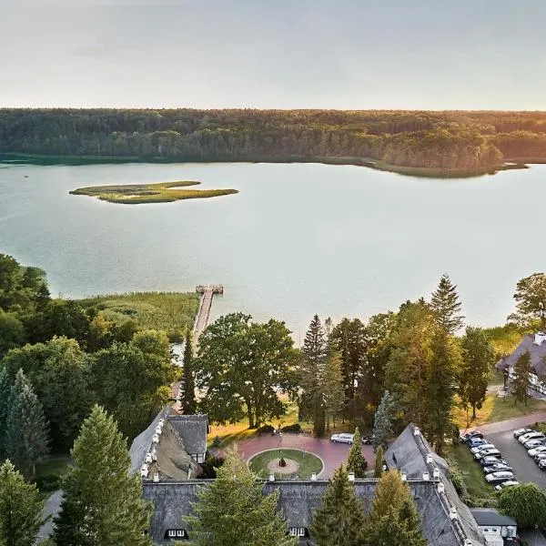
<path id="1" fill-rule="evenodd" d="M 500 397 L 495 393 L 491 393 L 487 395 L 481 410 L 476 411 L 475 420 L 472 420 L 472 413 L 469 410 L 468 427 L 480 427 L 487 423 L 521 417 L 536 411 L 546 411 L 546 401 L 529 399 L 527 406 L 523 406 L 523 404 L 514 405 L 513 397 Z M 467 428 L 465 410 L 456 408 L 453 411 L 453 420 L 461 430 Z"/>

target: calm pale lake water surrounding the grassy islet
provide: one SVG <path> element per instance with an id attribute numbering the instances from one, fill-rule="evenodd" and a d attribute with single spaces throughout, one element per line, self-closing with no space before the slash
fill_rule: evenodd
<path id="1" fill-rule="evenodd" d="M 26 177 L 25 177 L 26 176 Z M 457 180 L 315 164 L 0 167 L 0 252 L 48 272 L 52 293 L 222 283 L 214 316 L 363 319 L 459 285 L 472 324 L 503 323 L 517 280 L 544 270 L 546 166 Z M 196 179 L 238 195 L 152 205 L 76 187 Z"/>

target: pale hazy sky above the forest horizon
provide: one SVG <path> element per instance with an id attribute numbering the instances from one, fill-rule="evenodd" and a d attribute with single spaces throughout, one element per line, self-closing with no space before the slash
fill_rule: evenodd
<path id="1" fill-rule="evenodd" d="M 0 106 L 546 109 L 544 0 L 0 0 Z"/>

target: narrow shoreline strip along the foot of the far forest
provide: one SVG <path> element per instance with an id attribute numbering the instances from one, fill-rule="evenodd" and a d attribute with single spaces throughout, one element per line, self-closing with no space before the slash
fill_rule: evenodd
<path id="1" fill-rule="evenodd" d="M 38 165 L 38 166 L 81 166 L 81 165 L 118 165 L 126 163 L 319 163 L 323 165 L 353 165 L 368 167 L 408 177 L 424 178 L 470 178 L 495 175 L 501 170 L 529 168 L 530 163 L 546 164 L 543 157 L 506 158 L 502 164 L 480 168 L 442 168 L 442 167 L 408 167 L 385 163 L 369 157 L 235 157 L 229 159 L 202 159 L 198 157 L 136 157 L 136 156 L 48 156 L 21 153 L 0 153 L 0 165 Z"/>

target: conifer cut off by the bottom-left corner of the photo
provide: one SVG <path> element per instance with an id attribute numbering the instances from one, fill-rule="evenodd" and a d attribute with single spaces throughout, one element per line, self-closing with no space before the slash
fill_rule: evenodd
<path id="1" fill-rule="evenodd" d="M 0 466 L 0 544 L 33 546 L 40 525 L 44 501 L 34 484 L 6 460 Z"/>

